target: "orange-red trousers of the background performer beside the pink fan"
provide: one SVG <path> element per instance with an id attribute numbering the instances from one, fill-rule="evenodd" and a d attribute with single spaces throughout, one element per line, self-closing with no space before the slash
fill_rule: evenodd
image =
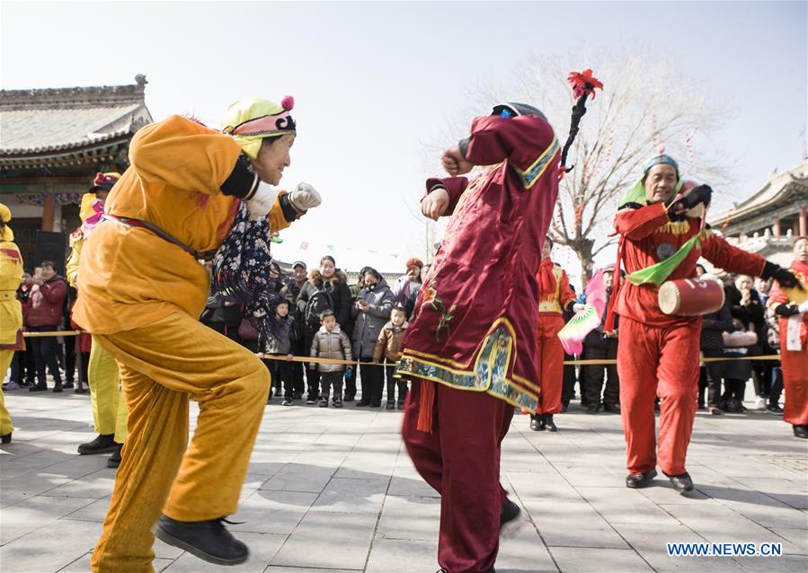
<path id="1" fill-rule="evenodd" d="M 564 387 L 564 347 L 558 333 L 564 328 L 561 314 L 538 315 L 538 374 L 541 395 L 537 414 L 557 414 L 561 411 L 561 390 Z"/>

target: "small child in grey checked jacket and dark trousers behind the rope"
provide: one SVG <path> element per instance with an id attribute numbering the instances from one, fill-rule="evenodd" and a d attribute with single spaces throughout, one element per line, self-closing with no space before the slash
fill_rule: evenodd
<path id="1" fill-rule="evenodd" d="M 351 339 L 340 330 L 340 325 L 332 310 L 320 314 L 320 330 L 312 339 L 311 356 L 315 358 L 333 358 L 351 361 Z M 328 394 L 333 388 L 333 406 L 342 408 L 342 375 L 351 370 L 342 364 L 317 363 L 310 366 L 320 373 L 320 408 L 328 407 Z"/>

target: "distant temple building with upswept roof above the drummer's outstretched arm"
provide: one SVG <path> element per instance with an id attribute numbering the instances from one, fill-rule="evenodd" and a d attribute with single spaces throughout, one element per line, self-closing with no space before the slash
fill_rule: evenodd
<path id="1" fill-rule="evenodd" d="M 763 189 L 708 223 L 744 251 L 758 252 L 788 266 L 792 243 L 808 235 L 808 159 L 786 172 L 772 173 Z"/>

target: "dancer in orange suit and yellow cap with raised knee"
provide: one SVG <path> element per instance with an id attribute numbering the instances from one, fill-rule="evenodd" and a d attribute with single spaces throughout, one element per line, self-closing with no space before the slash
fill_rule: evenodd
<path id="1" fill-rule="evenodd" d="M 265 293 L 250 262 L 320 204 L 305 183 L 273 187 L 289 166 L 292 106 L 289 97 L 237 101 L 224 133 L 180 116 L 140 129 L 84 244 L 74 320 L 117 361 L 129 408 L 93 571 L 152 571 L 155 535 L 212 563 L 247 559 L 223 522 L 236 510 L 270 376 L 199 322 L 209 277 L 198 260 L 215 255 L 214 280 L 231 282 L 260 331 L 271 326 L 274 312 L 254 304 Z M 191 396 L 200 415 L 189 445 Z"/>

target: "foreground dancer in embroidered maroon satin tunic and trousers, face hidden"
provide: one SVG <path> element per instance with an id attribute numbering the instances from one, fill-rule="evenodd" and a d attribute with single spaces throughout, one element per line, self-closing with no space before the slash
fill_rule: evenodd
<path id="1" fill-rule="evenodd" d="M 589 94 L 594 78 L 587 78 Z M 573 128 L 586 99 L 579 95 Z M 443 154 L 452 177 L 426 184 L 422 213 L 452 218 L 423 280 L 397 375 L 413 381 L 404 444 L 440 493 L 444 572 L 493 571 L 500 532 L 521 521 L 500 484 L 500 447 L 514 406 L 538 406 L 536 272 L 558 193 L 559 151 L 541 111 L 504 103 Z M 490 167 L 470 182 L 457 177 L 475 165 Z"/>

